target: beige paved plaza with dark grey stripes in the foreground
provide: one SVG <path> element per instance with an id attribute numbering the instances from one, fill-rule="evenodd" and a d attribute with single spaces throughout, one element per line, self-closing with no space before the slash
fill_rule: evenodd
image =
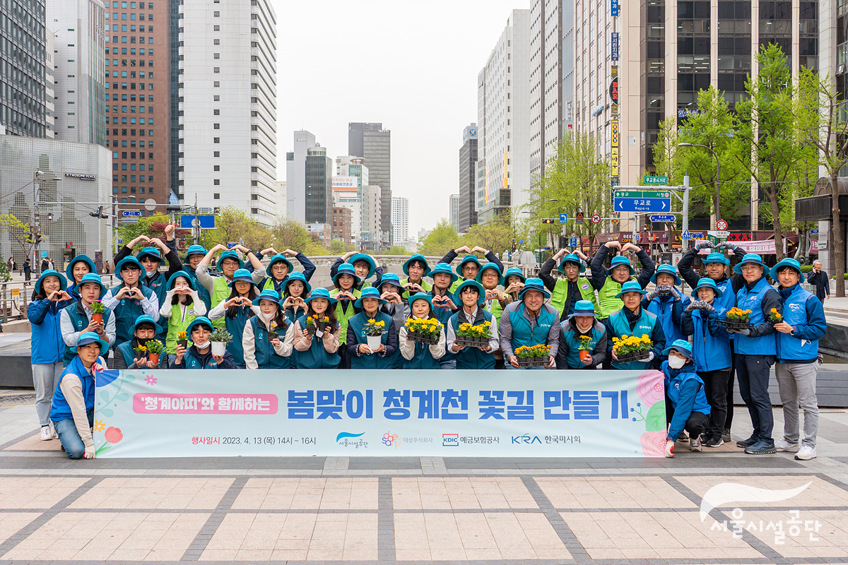
<path id="1" fill-rule="evenodd" d="M 737 411 L 734 435 L 747 436 Z M 683 443 L 673 460 L 70 461 L 37 430 L 33 407 L 0 408 L 0 564 L 848 562 L 843 410 L 823 410 L 809 462 Z M 731 496 L 702 515 L 722 483 L 809 485 L 784 501 Z"/>

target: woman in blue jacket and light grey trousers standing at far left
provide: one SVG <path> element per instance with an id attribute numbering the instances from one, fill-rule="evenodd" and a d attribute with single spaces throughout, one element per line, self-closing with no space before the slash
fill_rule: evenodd
<path id="1" fill-rule="evenodd" d="M 36 414 L 41 424 L 41 439 L 52 440 L 55 431 L 50 428 L 50 403 L 56 383 L 64 371 L 64 341 L 62 340 L 62 310 L 72 304 L 67 292 L 67 281 L 57 271 L 47 269 L 36 280 L 32 302 L 27 307 L 30 320 L 32 385 L 36 390 Z"/>

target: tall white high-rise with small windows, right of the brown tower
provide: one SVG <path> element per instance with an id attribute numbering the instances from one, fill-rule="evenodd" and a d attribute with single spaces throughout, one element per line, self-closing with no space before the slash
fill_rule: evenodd
<path id="1" fill-rule="evenodd" d="M 165 16 L 167 4 L 156 4 Z M 272 225 L 281 196 L 274 8 L 268 0 L 182 0 L 179 24 L 181 198 L 197 194 L 204 206 L 232 206 Z M 299 209 L 288 213 L 300 219 Z"/>

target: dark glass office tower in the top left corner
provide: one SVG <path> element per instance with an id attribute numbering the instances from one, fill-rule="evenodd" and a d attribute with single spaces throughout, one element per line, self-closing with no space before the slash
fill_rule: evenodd
<path id="1" fill-rule="evenodd" d="M 42 0 L 0 2 L 0 126 L 13 136 L 47 136 Z"/>

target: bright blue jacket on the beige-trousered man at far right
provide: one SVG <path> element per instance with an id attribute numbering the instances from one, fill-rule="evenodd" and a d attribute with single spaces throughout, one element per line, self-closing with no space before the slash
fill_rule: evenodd
<path id="1" fill-rule="evenodd" d="M 801 285 L 778 288 L 784 299 L 784 320 L 794 330 L 777 332 L 778 363 L 816 363 L 818 340 L 828 331 L 822 301 Z"/>

